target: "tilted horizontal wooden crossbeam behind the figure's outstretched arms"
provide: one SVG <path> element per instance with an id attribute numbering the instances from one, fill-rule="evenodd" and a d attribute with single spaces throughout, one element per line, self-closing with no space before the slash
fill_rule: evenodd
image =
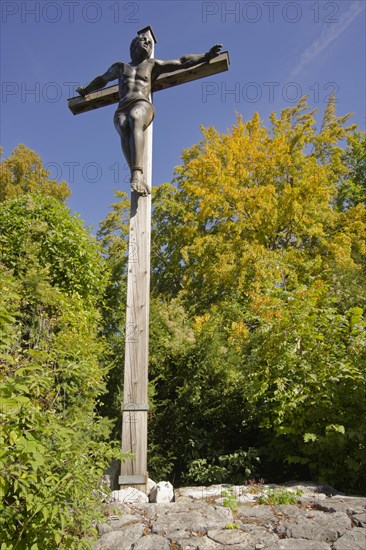
<path id="1" fill-rule="evenodd" d="M 199 78 L 222 73 L 229 69 L 229 63 L 229 53 L 223 52 L 211 59 L 208 63 L 200 63 L 200 65 L 196 65 L 191 69 L 179 69 L 174 73 L 162 74 L 156 79 L 152 91 L 158 92 L 166 88 L 184 84 L 185 82 L 191 82 L 192 80 L 198 80 Z M 101 90 L 92 92 L 85 98 L 81 96 L 72 97 L 68 99 L 67 104 L 74 115 L 79 115 L 80 113 L 86 113 L 93 109 L 99 109 L 99 107 L 118 103 L 118 101 L 118 84 L 115 84 L 114 86 L 108 86 L 108 88 L 102 88 Z"/>

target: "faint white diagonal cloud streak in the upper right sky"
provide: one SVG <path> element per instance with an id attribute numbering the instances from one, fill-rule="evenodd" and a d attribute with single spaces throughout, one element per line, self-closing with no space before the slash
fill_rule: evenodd
<path id="1" fill-rule="evenodd" d="M 324 26 L 319 37 L 302 53 L 299 62 L 289 76 L 289 80 L 297 77 L 306 65 L 311 63 L 329 44 L 336 40 L 352 21 L 364 11 L 365 6 L 364 0 L 353 1 L 349 9 L 342 13 L 337 23 L 328 23 L 327 26 Z"/>

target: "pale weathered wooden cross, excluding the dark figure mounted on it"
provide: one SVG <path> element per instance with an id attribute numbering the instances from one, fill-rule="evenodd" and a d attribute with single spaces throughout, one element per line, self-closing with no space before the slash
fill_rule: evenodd
<path id="1" fill-rule="evenodd" d="M 148 34 L 152 43 L 156 38 L 151 27 L 137 34 Z M 152 51 L 151 57 L 154 52 Z M 227 52 L 209 62 L 174 73 L 162 74 L 152 92 L 178 84 L 211 76 L 229 68 Z M 119 101 L 118 85 L 89 94 L 86 98 L 73 97 L 68 106 L 74 115 Z M 152 124 L 145 130 L 143 173 L 151 188 Z M 125 332 L 124 395 L 122 406 L 122 452 L 131 451 L 134 459 L 123 462 L 119 485 L 133 486 L 146 492 L 147 473 L 147 414 L 148 406 L 148 344 L 150 305 L 150 234 L 151 195 L 132 191 L 127 278 L 127 311 Z"/>

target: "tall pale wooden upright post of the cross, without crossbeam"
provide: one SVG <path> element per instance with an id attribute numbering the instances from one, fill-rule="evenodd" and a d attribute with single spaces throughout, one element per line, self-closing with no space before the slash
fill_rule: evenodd
<path id="1" fill-rule="evenodd" d="M 138 34 L 150 34 L 150 28 Z M 153 48 L 154 50 L 154 48 Z M 154 51 L 152 51 L 152 56 Z M 151 98 L 150 98 L 151 99 Z M 152 187 L 152 124 L 145 130 L 143 170 Z M 150 309 L 151 195 L 131 193 L 125 366 L 122 404 L 122 452 L 131 451 L 133 460 L 121 464 L 119 485 L 133 486 L 146 492 L 148 347 Z"/>

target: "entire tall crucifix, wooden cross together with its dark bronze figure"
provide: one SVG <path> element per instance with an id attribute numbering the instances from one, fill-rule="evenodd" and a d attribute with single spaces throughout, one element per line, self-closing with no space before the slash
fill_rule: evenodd
<path id="1" fill-rule="evenodd" d="M 228 70 L 228 53 L 221 45 L 204 54 L 189 54 L 162 61 L 153 57 L 156 38 L 151 27 L 137 32 L 129 63 L 114 63 L 106 73 L 68 100 L 74 115 L 118 102 L 114 124 L 131 171 L 131 209 L 127 277 L 125 365 L 122 406 L 122 451 L 133 460 L 121 465 L 119 485 L 146 492 L 148 339 L 150 302 L 150 232 L 152 181 L 151 94 L 178 84 Z M 105 88 L 108 82 L 118 84 Z"/>

